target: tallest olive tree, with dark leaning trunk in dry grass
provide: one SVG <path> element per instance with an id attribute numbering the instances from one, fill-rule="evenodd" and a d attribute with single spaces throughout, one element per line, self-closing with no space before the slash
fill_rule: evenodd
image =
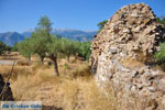
<path id="1" fill-rule="evenodd" d="M 40 19 L 35 32 L 32 34 L 33 52 L 43 62 L 47 56 L 54 65 L 55 76 L 59 76 L 57 55 L 62 52 L 62 40 L 51 34 L 52 22 L 44 15 Z"/>

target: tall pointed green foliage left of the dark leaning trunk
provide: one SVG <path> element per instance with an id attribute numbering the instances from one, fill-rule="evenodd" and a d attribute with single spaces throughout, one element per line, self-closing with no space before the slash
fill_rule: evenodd
<path id="1" fill-rule="evenodd" d="M 50 31 L 52 30 L 52 23 L 50 19 L 44 15 L 40 19 L 35 32 L 31 36 L 31 54 L 37 54 L 43 63 L 47 52 L 47 43 L 51 42 Z"/>

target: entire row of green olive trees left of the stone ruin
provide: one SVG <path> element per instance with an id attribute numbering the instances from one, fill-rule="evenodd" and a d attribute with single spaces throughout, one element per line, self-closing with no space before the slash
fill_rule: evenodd
<path id="1" fill-rule="evenodd" d="M 30 38 L 15 44 L 15 48 L 25 57 L 31 59 L 31 55 L 37 54 L 43 63 L 44 57 L 48 57 L 54 64 L 55 76 L 59 76 L 57 57 L 64 54 L 69 62 L 70 55 L 81 56 L 89 59 L 90 43 L 74 42 L 68 38 L 51 34 L 52 22 L 47 16 L 40 19 L 35 32 Z"/>

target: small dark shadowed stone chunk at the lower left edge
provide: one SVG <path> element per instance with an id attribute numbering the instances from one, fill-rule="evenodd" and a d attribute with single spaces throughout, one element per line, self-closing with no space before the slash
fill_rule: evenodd
<path id="1" fill-rule="evenodd" d="M 13 96 L 9 84 L 6 84 L 0 75 L 0 101 L 12 101 Z"/>

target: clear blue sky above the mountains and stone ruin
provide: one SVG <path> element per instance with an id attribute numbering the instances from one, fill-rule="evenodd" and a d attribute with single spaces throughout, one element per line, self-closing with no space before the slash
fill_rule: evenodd
<path id="1" fill-rule="evenodd" d="M 44 14 L 56 29 L 98 30 L 121 7 L 140 2 L 165 15 L 165 0 L 0 0 L 0 33 L 33 29 Z"/>

